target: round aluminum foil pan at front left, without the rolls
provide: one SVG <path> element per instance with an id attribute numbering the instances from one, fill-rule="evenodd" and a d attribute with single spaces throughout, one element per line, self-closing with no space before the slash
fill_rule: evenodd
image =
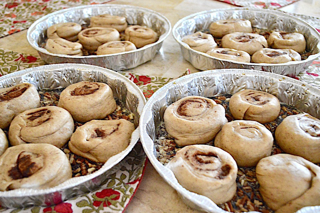
<path id="1" fill-rule="evenodd" d="M 131 135 L 129 146 L 119 154 L 111 157 L 98 171 L 73 177 L 66 182 L 48 189 L 16 189 L 0 192 L 0 205 L 5 208 L 17 208 L 30 205 L 47 206 L 54 204 L 54 193 L 59 192 L 65 201 L 78 194 L 90 192 L 97 188 L 107 176 L 114 172 L 112 167 L 120 162 L 134 147 L 139 139 L 139 118 L 146 99 L 141 90 L 125 76 L 102 67 L 87 64 L 52 64 L 30 68 L 0 78 L 0 88 L 20 83 L 31 83 L 37 89 L 57 89 L 67 87 L 79 81 L 103 82 L 108 84 L 113 95 L 119 98 L 127 109 L 134 113 L 136 129 Z"/>

